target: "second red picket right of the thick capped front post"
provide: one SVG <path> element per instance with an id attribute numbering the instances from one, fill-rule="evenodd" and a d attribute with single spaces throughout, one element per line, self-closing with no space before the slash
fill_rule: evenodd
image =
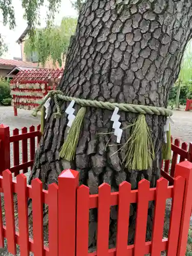
<path id="1" fill-rule="evenodd" d="M 99 186 L 98 223 L 97 223 L 97 255 L 108 255 L 111 186 L 103 183 Z"/>

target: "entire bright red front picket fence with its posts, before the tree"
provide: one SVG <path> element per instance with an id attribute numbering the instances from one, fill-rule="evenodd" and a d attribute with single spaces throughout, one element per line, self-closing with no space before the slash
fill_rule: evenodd
<path id="1" fill-rule="evenodd" d="M 4 238 L 7 238 L 8 251 L 15 254 L 18 244 L 21 256 L 29 255 L 29 251 L 35 256 L 140 256 L 147 253 L 157 256 L 164 250 L 167 256 L 185 255 L 192 206 L 192 163 L 184 161 L 176 165 L 173 186 L 168 186 L 168 181 L 162 177 L 156 188 L 150 188 L 150 182 L 143 179 L 138 190 L 131 190 L 131 184 L 124 181 L 118 192 L 111 193 L 110 185 L 103 183 L 98 195 L 90 195 L 85 185 L 78 186 L 78 176 L 75 170 L 65 170 L 58 178 L 58 186 L 51 184 L 47 191 L 42 189 L 38 179 L 34 179 L 31 186 L 27 185 L 23 174 L 13 182 L 11 172 L 5 170 L 0 177 L 0 191 L 4 193 L 8 221 L 3 223 L 0 208 L 0 246 L 4 247 Z M 16 231 L 13 193 L 17 194 L 18 202 Z M 28 198 L 32 199 L 33 207 L 33 239 L 28 233 Z M 173 204 L 168 238 L 162 239 L 167 198 L 173 198 Z M 155 201 L 154 224 L 152 241 L 145 242 L 149 201 Z M 49 247 L 44 246 L 44 203 L 49 207 Z M 131 203 L 137 203 L 135 242 L 127 245 Z M 114 205 L 118 206 L 116 247 L 109 249 L 110 209 Z M 88 253 L 89 210 L 92 208 L 97 208 L 98 212 L 97 247 L 96 251 Z"/>

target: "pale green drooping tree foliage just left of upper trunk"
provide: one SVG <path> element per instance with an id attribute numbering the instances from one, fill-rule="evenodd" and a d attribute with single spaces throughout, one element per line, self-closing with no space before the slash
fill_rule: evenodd
<path id="1" fill-rule="evenodd" d="M 30 56 L 32 52 L 38 55 L 42 64 L 51 58 L 62 64 L 62 55 L 67 53 L 70 37 L 75 33 L 77 19 L 65 17 L 60 26 L 49 26 L 45 29 L 35 30 L 34 37 L 26 40 L 25 53 Z"/>

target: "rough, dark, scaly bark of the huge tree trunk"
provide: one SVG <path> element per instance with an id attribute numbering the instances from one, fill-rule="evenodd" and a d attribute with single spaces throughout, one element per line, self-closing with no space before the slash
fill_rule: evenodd
<path id="1" fill-rule="evenodd" d="M 78 19 L 66 68 L 58 86 L 66 95 L 110 102 L 127 102 L 153 106 L 167 106 L 168 93 L 176 81 L 186 43 L 192 32 L 192 4 L 190 0 L 87 0 Z M 62 103 L 65 111 L 69 103 Z M 75 106 L 76 112 L 79 106 Z M 67 135 L 66 115 L 54 119 L 51 103 L 44 135 L 35 155 L 31 178 L 38 177 L 45 188 L 57 182 L 65 168 L 80 173 L 80 184 L 98 192 L 102 182 L 112 191 L 126 180 L 137 188 L 145 178 L 156 185 L 160 177 L 164 117 L 146 115 L 155 146 L 153 168 L 138 172 L 121 164 L 122 154 L 112 154 L 119 146 L 106 148 L 109 136 L 96 136 L 98 132 L 111 132 L 112 111 L 87 108 L 75 161 L 59 159 L 59 150 Z M 119 113 L 122 126 L 133 123 L 136 114 Z M 129 138 L 126 130 L 122 142 Z M 115 143 L 112 137 L 111 143 Z M 148 237 L 153 218 L 152 204 L 148 211 Z M 134 241 L 135 205 L 130 212 L 129 243 Z M 96 212 L 90 212 L 89 245 L 96 242 Z M 117 211 L 111 210 L 110 243 L 115 243 Z"/>

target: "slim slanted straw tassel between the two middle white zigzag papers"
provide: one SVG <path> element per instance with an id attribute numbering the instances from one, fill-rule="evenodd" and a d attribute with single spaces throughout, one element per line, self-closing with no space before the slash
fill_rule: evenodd
<path id="1" fill-rule="evenodd" d="M 63 143 L 59 156 L 67 161 L 74 160 L 77 143 L 79 140 L 79 134 L 81 130 L 81 124 L 86 114 L 86 108 L 82 107 L 78 111 L 72 126 L 70 127 L 66 141 Z"/>

